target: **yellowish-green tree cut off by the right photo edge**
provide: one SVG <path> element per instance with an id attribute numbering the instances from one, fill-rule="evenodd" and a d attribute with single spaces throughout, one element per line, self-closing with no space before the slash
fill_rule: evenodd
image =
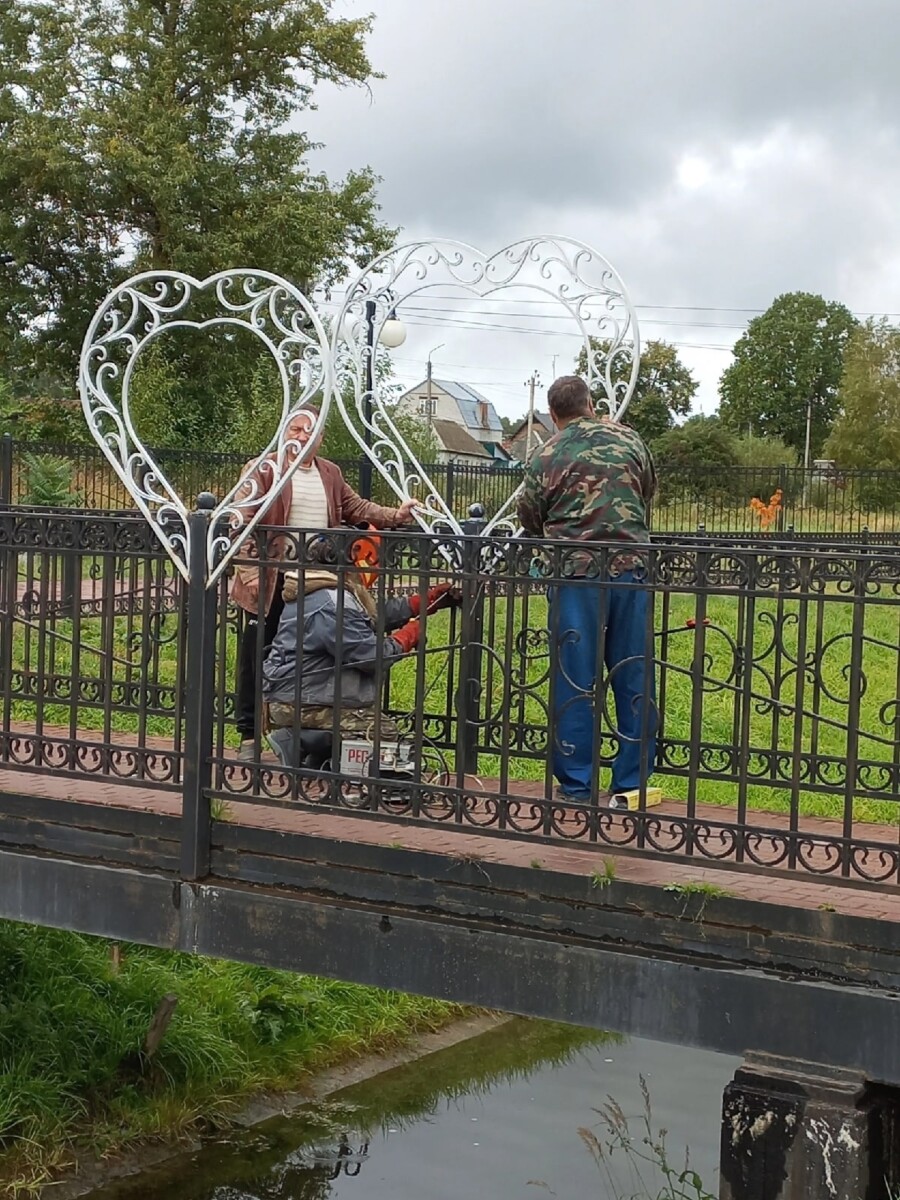
<path id="1" fill-rule="evenodd" d="M 856 331 L 839 398 L 828 457 L 851 469 L 900 468 L 900 329 L 870 320 Z"/>

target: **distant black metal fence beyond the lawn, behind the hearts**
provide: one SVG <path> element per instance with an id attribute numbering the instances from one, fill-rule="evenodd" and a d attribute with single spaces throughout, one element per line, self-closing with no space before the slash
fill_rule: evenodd
<path id="1" fill-rule="evenodd" d="M 157 461 L 179 496 L 187 503 L 200 492 L 222 497 L 240 478 L 247 461 L 242 454 L 160 450 Z M 58 503 L 116 511 L 132 505 L 112 467 L 97 446 L 40 445 L 0 440 L 0 499 L 10 504 L 52 503 L 35 494 L 35 460 L 59 464 Z M 347 481 L 360 490 L 360 461 L 340 460 Z M 464 515 L 481 504 L 487 516 L 497 512 L 522 481 L 521 467 L 473 463 L 427 463 L 425 470 L 451 511 Z M 684 467 L 661 464 L 660 487 L 653 506 L 658 533 L 697 529 L 728 534 L 840 534 L 853 540 L 900 539 L 900 472 L 804 470 L 800 467 Z M 373 499 L 395 502 L 377 476 Z"/>

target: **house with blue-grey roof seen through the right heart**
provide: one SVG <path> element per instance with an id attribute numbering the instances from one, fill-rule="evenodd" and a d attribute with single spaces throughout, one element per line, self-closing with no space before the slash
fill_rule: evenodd
<path id="1" fill-rule="evenodd" d="M 478 462 L 488 467 L 510 461 L 503 448 L 503 425 L 497 409 L 468 383 L 424 379 L 403 392 L 397 407 L 431 422 L 440 462 Z"/>

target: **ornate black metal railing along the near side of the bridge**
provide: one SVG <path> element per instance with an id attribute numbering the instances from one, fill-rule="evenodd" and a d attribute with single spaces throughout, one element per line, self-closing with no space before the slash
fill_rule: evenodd
<path id="1" fill-rule="evenodd" d="M 347 587 L 358 535 L 329 534 L 325 568 L 295 546 L 300 625 L 314 594 L 307 574 L 330 572 L 317 586 L 336 596 L 334 654 L 353 650 L 382 703 L 365 709 L 362 733 L 320 731 L 331 733 L 328 762 L 283 767 L 262 730 L 256 761 L 236 757 L 238 643 L 251 638 L 258 672 L 264 623 L 245 634 L 248 614 L 230 602 L 228 582 L 205 587 L 208 521 L 191 518 L 188 586 L 140 518 L 0 511 L 0 811 L 25 786 L 61 791 L 73 805 L 98 788 L 144 788 L 149 806 L 180 806 L 188 877 L 208 869 L 229 805 L 299 805 L 704 866 L 900 882 L 899 554 L 664 536 L 623 578 L 614 547 L 388 534 L 366 659 L 342 643 L 344 614 L 359 604 Z M 248 577 L 283 566 L 265 557 L 266 544 L 258 553 L 239 560 Z M 458 604 L 431 611 L 438 584 L 452 586 Z M 587 590 L 600 610 L 649 598 L 624 659 L 571 623 L 562 589 L 569 600 Z M 394 661 L 386 602 L 409 595 L 421 636 Z M 572 640 L 595 659 L 583 689 L 559 670 Z M 635 664 L 655 696 L 632 686 L 626 719 L 617 671 Z M 308 727 L 317 706 L 302 688 L 322 670 L 307 664 L 306 679 L 293 677 L 288 732 Z M 334 706 L 355 703 L 336 678 Z M 589 743 L 590 784 L 566 797 L 554 778 L 572 754 L 571 730 L 581 751 Z M 406 773 L 360 775 L 340 757 L 353 740 L 379 763 L 400 746 Z M 640 780 L 634 810 L 619 811 L 608 772 L 629 744 Z M 29 775 L 40 779 L 14 782 Z"/>

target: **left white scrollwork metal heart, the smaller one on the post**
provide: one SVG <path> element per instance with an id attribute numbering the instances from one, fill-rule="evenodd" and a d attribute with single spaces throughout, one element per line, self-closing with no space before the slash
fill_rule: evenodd
<path id="1" fill-rule="evenodd" d="M 211 294 L 216 314 L 192 319 L 191 304 L 202 293 Z M 188 510 L 138 436 L 128 392 L 140 352 L 164 330 L 221 325 L 247 329 L 260 338 L 275 360 L 282 402 L 277 431 L 259 456 L 268 456 L 271 486 L 260 490 L 245 476 L 212 512 L 206 544 L 210 586 L 238 553 L 242 538 L 236 534 L 252 532 L 306 456 L 305 448 L 299 455 L 289 452 L 286 428 L 290 418 L 320 396 L 316 432 L 324 427 L 332 394 L 331 353 L 313 305 L 287 280 L 266 271 L 220 271 L 205 280 L 179 271 L 137 275 L 97 310 L 82 347 L 78 379 L 88 427 L 175 566 L 188 578 Z"/>

